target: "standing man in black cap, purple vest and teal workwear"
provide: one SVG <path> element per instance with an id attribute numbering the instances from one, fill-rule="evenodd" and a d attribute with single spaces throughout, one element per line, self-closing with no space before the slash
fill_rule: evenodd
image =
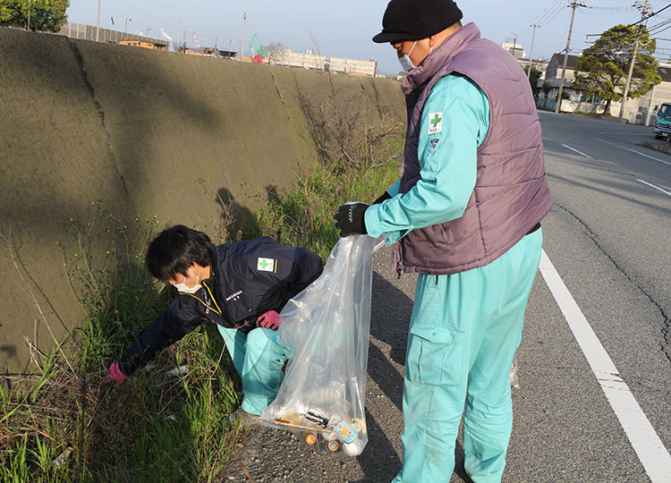
<path id="1" fill-rule="evenodd" d="M 465 470 L 501 480 L 509 373 L 552 207 L 531 87 L 452 0 L 392 0 L 373 40 L 408 71 L 403 177 L 335 216 L 341 235 L 383 235 L 399 276 L 419 272 L 395 483 L 447 481 L 463 417 Z"/>

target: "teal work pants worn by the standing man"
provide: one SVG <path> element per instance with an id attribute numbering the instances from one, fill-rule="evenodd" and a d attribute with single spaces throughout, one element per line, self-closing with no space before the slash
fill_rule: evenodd
<path id="1" fill-rule="evenodd" d="M 462 414 L 466 472 L 475 483 L 501 481 L 513 428 L 510 368 L 541 245 L 538 230 L 486 267 L 420 275 L 405 359 L 403 469 L 394 483 L 450 480 Z"/>

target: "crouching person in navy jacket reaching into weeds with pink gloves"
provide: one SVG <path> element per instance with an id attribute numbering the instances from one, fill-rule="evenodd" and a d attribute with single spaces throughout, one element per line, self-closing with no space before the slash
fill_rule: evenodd
<path id="1" fill-rule="evenodd" d="M 321 259 L 268 237 L 215 246 L 207 234 L 177 225 L 149 244 L 146 262 L 178 293 L 110 366 L 107 381 L 122 384 L 157 352 L 213 322 L 242 378 L 242 407 L 229 419 L 250 427 L 275 399 L 291 355 L 277 343 L 279 312 L 321 275 Z"/>

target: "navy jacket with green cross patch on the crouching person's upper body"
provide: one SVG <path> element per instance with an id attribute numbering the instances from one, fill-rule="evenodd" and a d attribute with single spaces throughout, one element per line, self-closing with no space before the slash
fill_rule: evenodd
<path id="1" fill-rule="evenodd" d="M 119 366 L 126 376 L 204 321 L 251 331 L 259 316 L 282 310 L 323 270 L 316 253 L 268 237 L 212 245 L 212 249 L 212 275 L 200 283 L 200 291 L 179 292 L 123 352 Z"/>

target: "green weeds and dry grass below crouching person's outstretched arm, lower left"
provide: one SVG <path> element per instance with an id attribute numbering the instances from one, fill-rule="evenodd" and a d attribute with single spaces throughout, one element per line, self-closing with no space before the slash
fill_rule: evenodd
<path id="1" fill-rule="evenodd" d="M 109 363 L 172 294 L 144 266 L 156 221 L 129 227 L 95 211 L 86 225 L 72 220 L 74 249 L 63 248 L 86 314 L 81 326 L 67 350 L 35 351 L 38 374 L 23 390 L 0 385 L 0 482 L 220 480 L 240 438 L 224 427 L 239 387 L 216 329 L 185 336 L 123 386 L 104 382 Z M 183 366 L 185 374 L 169 374 Z"/>

